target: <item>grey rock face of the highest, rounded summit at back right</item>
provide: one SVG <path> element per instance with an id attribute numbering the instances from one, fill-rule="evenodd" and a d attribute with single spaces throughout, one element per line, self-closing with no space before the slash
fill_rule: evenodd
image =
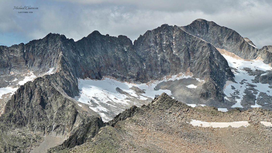
<path id="1" fill-rule="evenodd" d="M 250 45 L 236 31 L 219 26 L 213 21 L 194 20 L 191 24 L 181 27 L 186 32 L 210 42 L 216 48 L 225 49 L 245 59 L 255 59 L 258 48 Z"/>

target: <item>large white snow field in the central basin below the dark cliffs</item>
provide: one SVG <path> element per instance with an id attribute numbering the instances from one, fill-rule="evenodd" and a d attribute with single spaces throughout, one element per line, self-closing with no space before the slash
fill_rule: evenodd
<path id="1" fill-rule="evenodd" d="M 101 80 L 91 80 L 89 78 L 78 79 L 80 95 L 76 96 L 75 99 L 81 103 L 88 104 L 90 109 L 100 114 L 102 119 L 106 121 L 109 120 L 109 117 L 107 117 L 107 115 L 105 115 L 103 112 L 108 112 L 109 110 L 103 107 L 101 103 L 115 108 L 117 104 L 130 107 L 131 104 L 129 104 L 130 100 L 128 98 L 136 98 L 139 100 L 147 100 L 148 98 L 153 99 L 156 95 L 160 95 L 163 92 L 167 93 L 168 95 L 172 95 L 170 90 L 154 90 L 154 88 L 161 82 L 191 78 L 192 76 L 192 74 L 180 73 L 174 76 L 165 76 L 162 78 L 162 80 L 152 80 L 148 83 L 142 84 L 121 82 L 110 76 L 104 76 Z M 204 81 L 200 80 L 199 78 L 196 79 L 199 82 Z M 136 94 L 136 92 L 132 90 L 132 87 L 137 87 L 143 90 L 145 93 Z M 192 85 L 192 87 L 194 88 L 194 85 Z M 120 93 L 116 91 L 118 90 L 116 88 L 120 88 L 123 92 L 128 94 L 122 92 Z M 191 106 L 195 107 L 196 104 L 192 104 Z"/>

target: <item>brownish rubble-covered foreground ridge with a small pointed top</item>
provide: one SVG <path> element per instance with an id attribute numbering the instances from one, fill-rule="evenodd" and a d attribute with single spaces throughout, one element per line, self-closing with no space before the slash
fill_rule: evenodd
<path id="1" fill-rule="evenodd" d="M 271 122 L 271 115 L 260 108 L 225 113 L 213 107 L 192 108 L 162 93 L 148 105 L 119 114 L 83 145 L 49 152 L 267 152 L 272 150 L 272 127 L 262 120 Z M 203 121 L 232 126 L 206 127 Z"/>

